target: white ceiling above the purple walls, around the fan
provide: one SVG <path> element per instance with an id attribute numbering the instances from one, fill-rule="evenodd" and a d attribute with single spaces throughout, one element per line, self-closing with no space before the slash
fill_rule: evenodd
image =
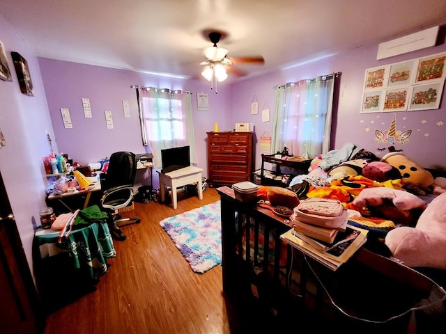
<path id="1" fill-rule="evenodd" d="M 225 31 L 229 57 L 265 58 L 238 65 L 247 78 L 436 26 L 446 1 L 0 0 L 0 13 L 39 57 L 186 77 L 212 46 L 202 31 Z"/>

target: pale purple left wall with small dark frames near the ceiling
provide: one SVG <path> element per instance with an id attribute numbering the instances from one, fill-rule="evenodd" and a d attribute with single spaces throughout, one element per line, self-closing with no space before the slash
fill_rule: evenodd
<path id="1" fill-rule="evenodd" d="M 0 148 L 0 172 L 32 270 L 33 220 L 40 225 L 39 210 L 46 207 L 47 178 L 42 157 L 49 153 L 47 132 L 52 134 L 52 124 L 36 56 L 1 15 L 0 31 L 13 79 L 0 80 L 0 129 L 6 140 L 6 146 Z M 28 63 L 33 97 L 20 92 L 11 51 L 21 54 Z"/>

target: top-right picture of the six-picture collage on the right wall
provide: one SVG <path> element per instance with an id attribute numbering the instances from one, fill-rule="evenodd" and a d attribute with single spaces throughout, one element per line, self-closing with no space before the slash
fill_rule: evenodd
<path id="1" fill-rule="evenodd" d="M 445 80 L 446 52 L 420 58 L 414 84 L 427 84 L 430 81 Z"/>

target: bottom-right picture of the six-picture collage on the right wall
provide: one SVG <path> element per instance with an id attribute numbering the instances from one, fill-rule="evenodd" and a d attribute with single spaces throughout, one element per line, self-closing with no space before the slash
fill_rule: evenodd
<path id="1" fill-rule="evenodd" d="M 414 86 L 410 95 L 409 110 L 426 110 L 440 108 L 441 95 L 445 81 Z"/>

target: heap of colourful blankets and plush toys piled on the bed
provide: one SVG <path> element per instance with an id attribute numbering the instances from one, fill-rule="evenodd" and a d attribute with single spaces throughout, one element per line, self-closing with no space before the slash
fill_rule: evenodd
<path id="1" fill-rule="evenodd" d="M 307 192 L 300 193 L 300 198 L 340 200 L 351 212 L 369 218 L 362 220 L 367 221 L 364 228 L 380 230 L 381 226 L 374 226 L 374 221 L 382 222 L 383 219 L 394 223 L 386 224 L 382 229 L 385 234 L 390 234 L 385 243 L 393 255 L 401 257 L 411 267 L 438 268 L 440 262 L 427 255 L 432 249 L 438 249 L 439 244 L 446 249 L 446 216 L 437 214 L 435 218 L 441 223 L 429 225 L 422 223 L 426 218 L 420 215 L 431 216 L 429 211 L 425 212 L 426 207 L 438 194 L 446 193 L 446 179 L 434 178 L 429 170 L 402 152 L 395 152 L 393 148 L 390 151 L 378 159 L 373 153 L 347 143 L 340 150 L 315 157 L 309 173 L 293 178 L 289 188 L 301 189 L 297 185 L 306 182 L 309 184 Z M 446 195 L 443 202 L 446 207 Z M 421 221 L 417 223 L 419 218 Z M 438 225 L 445 237 L 438 234 Z M 436 226 L 436 237 L 428 238 L 426 235 L 432 226 Z M 403 242 L 404 239 L 410 239 L 410 246 Z M 417 250 L 417 256 L 408 255 L 413 253 L 412 250 Z M 443 269 L 446 258 L 441 263 Z"/>

